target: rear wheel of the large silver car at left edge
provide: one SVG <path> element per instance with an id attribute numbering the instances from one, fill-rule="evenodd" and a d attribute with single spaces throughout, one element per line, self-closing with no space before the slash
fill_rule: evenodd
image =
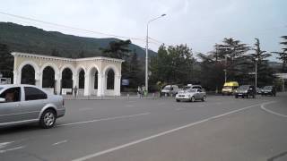
<path id="1" fill-rule="evenodd" d="M 52 128 L 56 123 L 56 112 L 52 109 L 45 110 L 39 120 L 39 125 L 44 129 Z"/>

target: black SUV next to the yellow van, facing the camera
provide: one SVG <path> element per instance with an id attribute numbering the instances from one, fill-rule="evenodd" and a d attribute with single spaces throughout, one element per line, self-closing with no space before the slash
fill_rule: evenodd
<path id="1" fill-rule="evenodd" d="M 235 91 L 235 97 L 253 97 L 257 95 L 257 89 L 252 85 L 242 85 Z"/>

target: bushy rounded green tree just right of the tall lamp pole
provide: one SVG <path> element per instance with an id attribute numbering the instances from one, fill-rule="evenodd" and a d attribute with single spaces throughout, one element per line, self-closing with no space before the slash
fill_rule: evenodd
<path id="1" fill-rule="evenodd" d="M 158 55 L 152 57 L 152 83 L 158 81 L 173 83 L 190 83 L 193 80 L 192 49 L 187 45 L 165 47 L 161 45 Z"/>

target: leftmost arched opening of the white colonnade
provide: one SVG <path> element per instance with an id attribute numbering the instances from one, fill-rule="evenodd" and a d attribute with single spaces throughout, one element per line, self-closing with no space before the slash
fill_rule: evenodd
<path id="1" fill-rule="evenodd" d="M 21 73 L 21 84 L 35 85 L 35 69 L 32 65 L 26 64 L 23 66 Z"/>

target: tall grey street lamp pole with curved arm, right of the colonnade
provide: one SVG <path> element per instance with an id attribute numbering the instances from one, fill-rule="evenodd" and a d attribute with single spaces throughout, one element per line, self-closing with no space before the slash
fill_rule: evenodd
<path id="1" fill-rule="evenodd" d="M 148 93 L 149 89 L 149 24 L 152 21 L 158 20 L 166 14 L 161 14 L 161 16 L 156 17 L 147 22 L 146 25 L 146 47 L 145 47 L 145 90 Z"/>

